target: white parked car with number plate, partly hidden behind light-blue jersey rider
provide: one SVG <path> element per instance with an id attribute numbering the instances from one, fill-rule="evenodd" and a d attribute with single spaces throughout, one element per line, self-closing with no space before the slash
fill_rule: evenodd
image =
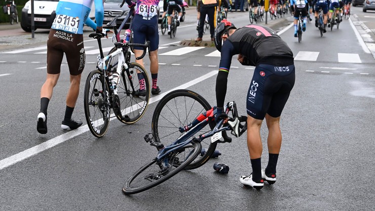
<path id="1" fill-rule="evenodd" d="M 34 0 L 34 30 L 37 28 L 50 29 L 56 17 L 59 0 Z M 89 17 L 95 19 L 95 6 L 91 7 Z M 21 28 L 31 32 L 31 1 L 26 2 L 21 12 Z"/>

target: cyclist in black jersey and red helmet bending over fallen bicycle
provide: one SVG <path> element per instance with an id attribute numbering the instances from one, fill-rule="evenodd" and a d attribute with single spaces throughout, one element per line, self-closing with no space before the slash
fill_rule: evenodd
<path id="1" fill-rule="evenodd" d="M 288 45 L 269 27 L 259 24 L 236 28 L 228 20 L 221 21 L 214 32 L 214 44 L 221 52 L 216 78 L 216 121 L 227 121 L 222 108 L 227 92 L 232 57 L 238 54 L 243 65 L 255 66 L 246 96 L 247 146 L 252 173 L 241 176 L 240 182 L 256 189 L 276 182 L 276 164 L 281 147 L 280 116 L 294 86 L 294 58 Z M 266 118 L 269 162 L 261 169 L 262 144 L 260 126 Z"/>

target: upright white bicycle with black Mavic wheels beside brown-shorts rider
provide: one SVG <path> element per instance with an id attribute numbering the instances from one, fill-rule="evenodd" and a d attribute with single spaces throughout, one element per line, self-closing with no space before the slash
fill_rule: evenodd
<path id="1" fill-rule="evenodd" d="M 134 8 L 124 21 L 133 12 Z M 107 26 L 115 29 L 116 20 L 117 17 Z M 143 47 L 143 54 L 136 58 L 141 59 L 149 42 L 133 44 L 128 40 L 121 40 L 104 57 L 100 41 L 102 34 L 91 33 L 89 37 L 97 39 L 100 55 L 97 57 L 97 68 L 89 74 L 85 84 L 85 116 L 91 133 L 102 137 L 108 129 L 110 117 L 116 116 L 122 123 L 133 124 L 147 109 L 150 96 L 147 72 L 140 64 L 130 62 L 130 47 Z M 114 115 L 110 115 L 110 109 L 114 111 Z"/>

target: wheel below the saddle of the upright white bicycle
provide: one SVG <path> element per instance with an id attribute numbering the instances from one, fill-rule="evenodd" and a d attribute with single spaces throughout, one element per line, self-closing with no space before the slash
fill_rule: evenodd
<path id="1" fill-rule="evenodd" d="M 104 89 L 106 90 L 105 93 Z M 87 125 L 91 133 L 95 137 L 102 137 L 108 130 L 110 108 L 108 85 L 99 69 L 94 69 L 87 77 L 84 108 Z"/>

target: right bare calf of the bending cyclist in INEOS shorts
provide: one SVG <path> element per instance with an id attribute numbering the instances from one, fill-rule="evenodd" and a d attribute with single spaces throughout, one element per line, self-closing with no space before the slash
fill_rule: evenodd
<path id="1" fill-rule="evenodd" d="M 281 130 L 280 117 L 271 117 L 266 114 L 266 123 L 268 127 L 268 152 L 271 154 L 279 154 L 281 148 Z"/>

